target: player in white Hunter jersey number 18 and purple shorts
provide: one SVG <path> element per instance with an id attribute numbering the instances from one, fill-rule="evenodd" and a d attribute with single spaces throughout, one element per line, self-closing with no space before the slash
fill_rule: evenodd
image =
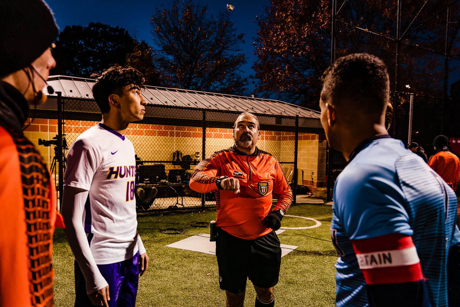
<path id="1" fill-rule="evenodd" d="M 70 146 L 62 214 L 75 255 L 75 306 L 134 306 L 149 257 L 137 232 L 134 147 L 128 124 L 144 118 L 144 77 L 105 70 L 92 88 L 102 121 Z"/>

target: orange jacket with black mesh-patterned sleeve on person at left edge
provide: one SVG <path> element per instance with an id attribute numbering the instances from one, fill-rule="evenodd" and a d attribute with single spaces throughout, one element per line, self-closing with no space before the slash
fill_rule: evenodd
<path id="1" fill-rule="evenodd" d="M 0 81 L 0 306 L 53 305 L 52 237 L 63 226 L 40 153 L 24 137 L 27 101 Z"/>

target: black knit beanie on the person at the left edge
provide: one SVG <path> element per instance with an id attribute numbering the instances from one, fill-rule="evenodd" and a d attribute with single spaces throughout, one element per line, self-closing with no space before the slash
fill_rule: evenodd
<path id="1" fill-rule="evenodd" d="M 43 0 L 1 0 L 0 31 L 0 77 L 32 64 L 58 34 Z"/>

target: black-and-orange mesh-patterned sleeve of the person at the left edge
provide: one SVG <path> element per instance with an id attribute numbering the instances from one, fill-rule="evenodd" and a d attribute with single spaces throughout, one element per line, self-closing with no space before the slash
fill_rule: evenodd
<path id="1" fill-rule="evenodd" d="M 24 209 L 29 238 L 31 301 L 36 307 L 51 307 L 53 306 L 53 269 L 52 225 L 49 216 L 52 204 L 50 203 L 51 191 L 48 188 L 50 176 L 46 170 L 45 161 L 32 143 L 25 139 L 22 133 L 11 133 L 11 135 L 17 147 L 23 182 Z"/>

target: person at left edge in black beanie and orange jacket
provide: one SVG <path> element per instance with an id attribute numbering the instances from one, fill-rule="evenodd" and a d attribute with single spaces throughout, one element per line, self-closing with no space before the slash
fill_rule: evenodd
<path id="1" fill-rule="evenodd" d="M 52 238 L 63 226 L 46 163 L 24 136 L 58 29 L 42 0 L 0 1 L 0 306 L 53 306 Z"/>

